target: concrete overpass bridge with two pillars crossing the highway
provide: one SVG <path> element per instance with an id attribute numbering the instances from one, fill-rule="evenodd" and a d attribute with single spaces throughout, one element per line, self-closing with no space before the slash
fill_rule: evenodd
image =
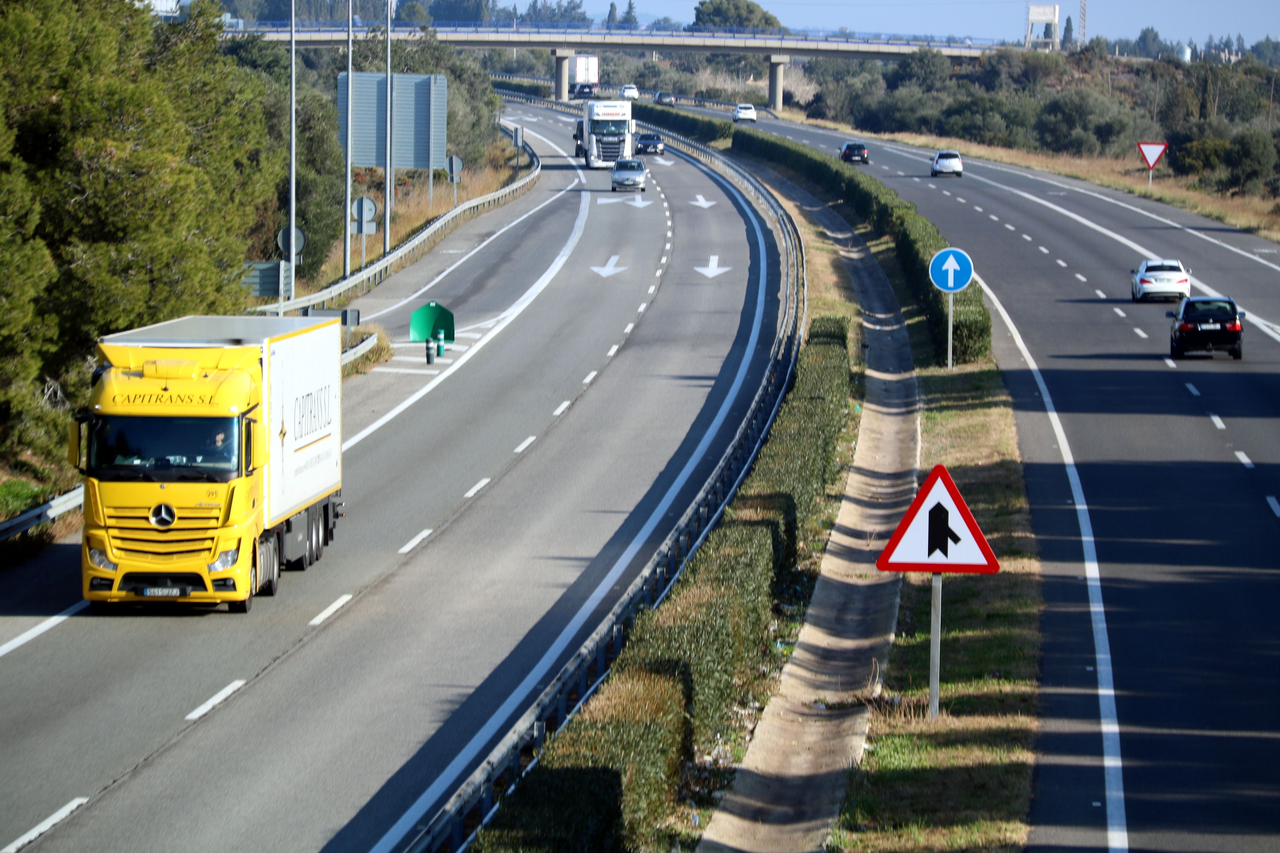
<path id="1" fill-rule="evenodd" d="M 356 38 L 381 38 L 381 22 L 358 22 Z M 748 27 L 653 27 L 609 26 L 600 23 L 434 23 L 431 29 L 442 42 L 456 47 L 539 47 L 556 58 L 556 98 L 568 100 L 568 60 L 579 52 L 603 50 L 690 51 L 701 54 L 750 54 L 769 58 L 769 106 L 782 109 L 782 73 L 792 56 L 836 59 L 893 59 L 922 47 L 942 52 L 952 60 L 975 59 L 998 43 L 993 38 L 955 36 L 901 36 L 855 33 L 847 29 L 758 29 Z M 228 35 L 257 33 L 268 41 L 287 41 L 289 22 L 233 20 Z M 302 46 L 339 46 L 347 42 L 347 22 L 307 20 L 296 23 Z M 416 38 L 421 27 L 393 22 L 392 38 Z"/>

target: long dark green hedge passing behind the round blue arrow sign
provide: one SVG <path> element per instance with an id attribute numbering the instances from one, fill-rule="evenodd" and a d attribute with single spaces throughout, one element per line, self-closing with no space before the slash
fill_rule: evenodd
<path id="1" fill-rule="evenodd" d="M 838 193 L 859 216 L 893 238 L 902 274 L 924 307 L 929 331 L 937 341 L 938 361 L 945 362 L 947 297 L 929 281 L 929 260 L 946 248 L 947 242 L 933 223 L 920 216 L 915 205 L 902 201 L 865 171 L 799 142 L 744 128 L 733 133 L 733 150 L 795 169 L 819 187 Z M 991 352 L 991 315 L 977 284 L 956 294 L 954 347 L 956 363 L 975 362 Z"/>

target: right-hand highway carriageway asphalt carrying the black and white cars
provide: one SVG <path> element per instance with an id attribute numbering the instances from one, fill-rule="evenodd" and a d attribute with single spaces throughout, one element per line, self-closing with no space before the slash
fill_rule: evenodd
<path id="1" fill-rule="evenodd" d="M 965 159 L 963 179 L 931 178 L 932 151 L 759 129 L 832 155 L 867 142 L 859 168 L 973 256 L 1027 348 L 992 311 L 1044 570 L 1032 849 L 1280 849 L 1280 343 L 1247 321 L 1243 361 L 1169 362 L 1175 306 L 1129 298 L 1130 269 L 1174 257 L 1197 293 L 1280 322 L 1280 247 L 1056 175 Z"/>

